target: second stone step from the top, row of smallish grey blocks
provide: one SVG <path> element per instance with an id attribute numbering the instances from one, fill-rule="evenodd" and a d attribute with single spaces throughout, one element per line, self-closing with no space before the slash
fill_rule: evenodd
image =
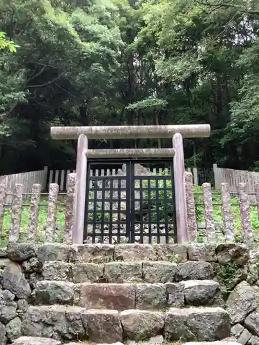
<path id="1" fill-rule="evenodd" d="M 47 261 L 42 275 L 45 280 L 59 280 L 74 283 L 166 283 L 189 279 L 212 279 L 213 267 L 209 262 L 93 262 Z"/>

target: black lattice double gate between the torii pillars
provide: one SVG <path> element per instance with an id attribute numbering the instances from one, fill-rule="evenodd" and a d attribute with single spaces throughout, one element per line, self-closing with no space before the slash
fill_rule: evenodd
<path id="1" fill-rule="evenodd" d="M 176 238 L 173 159 L 88 161 L 84 243 Z"/>

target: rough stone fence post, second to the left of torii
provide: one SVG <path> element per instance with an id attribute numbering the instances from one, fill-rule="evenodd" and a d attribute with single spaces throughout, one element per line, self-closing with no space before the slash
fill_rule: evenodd
<path id="1" fill-rule="evenodd" d="M 47 226 L 46 226 L 46 242 L 50 243 L 53 240 L 56 220 L 57 220 L 57 196 L 59 193 L 58 184 L 50 184 L 50 190 L 48 194 L 48 214 L 47 214 Z"/>

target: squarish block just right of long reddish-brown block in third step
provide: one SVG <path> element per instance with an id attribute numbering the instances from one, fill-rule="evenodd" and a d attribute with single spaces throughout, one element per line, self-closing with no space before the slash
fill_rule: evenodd
<path id="1" fill-rule="evenodd" d="M 136 308 L 160 309 L 166 306 L 166 288 L 162 284 L 137 284 Z"/>

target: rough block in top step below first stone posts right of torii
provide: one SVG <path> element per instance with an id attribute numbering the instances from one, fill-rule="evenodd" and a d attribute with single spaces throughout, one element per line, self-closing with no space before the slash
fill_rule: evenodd
<path id="1" fill-rule="evenodd" d="M 191 261 L 216 262 L 215 244 L 188 244 L 188 257 Z"/>

